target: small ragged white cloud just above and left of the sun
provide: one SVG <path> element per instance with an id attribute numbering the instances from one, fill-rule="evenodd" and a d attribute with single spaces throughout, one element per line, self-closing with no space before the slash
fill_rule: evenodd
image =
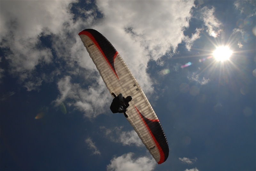
<path id="1" fill-rule="evenodd" d="M 204 7 L 200 9 L 200 18 L 204 21 L 204 25 L 207 27 L 207 33 L 212 37 L 218 37 L 222 30 L 220 21 L 214 16 L 215 8 Z"/>

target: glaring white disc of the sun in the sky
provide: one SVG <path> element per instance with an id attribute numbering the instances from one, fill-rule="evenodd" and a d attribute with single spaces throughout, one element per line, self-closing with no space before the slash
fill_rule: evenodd
<path id="1" fill-rule="evenodd" d="M 233 51 L 228 48 L 228 46 L 219 46 L 213 52 L 213 56 L 217 61 L 226 61 L 230 58 Z"/>

